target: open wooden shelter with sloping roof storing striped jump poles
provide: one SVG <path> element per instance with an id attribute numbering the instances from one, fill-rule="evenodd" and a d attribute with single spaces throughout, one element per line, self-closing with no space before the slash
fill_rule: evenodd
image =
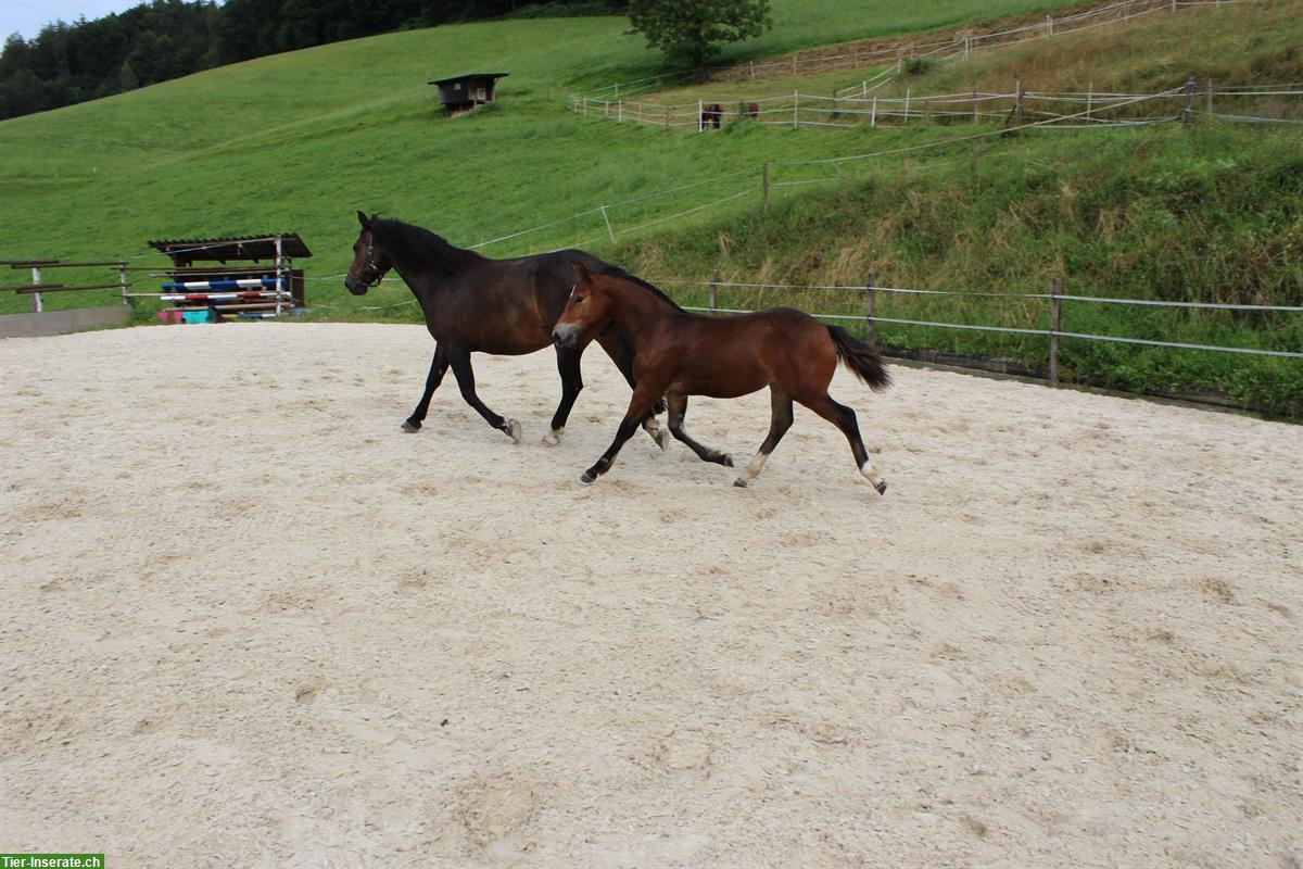
<path id="1" fill-rule="evenodd" d="M 304 270 L 294 268 L 293 259 L 313 254 L 298 233 L 173 238 L 149 245 L 172 259 L 172 268 L 163 272 L 168 279 L 163 292 L 150 296 L 172 302 L 175 311 L 207 311 L 208 319 L 265 318 L 305 306 Z"/>

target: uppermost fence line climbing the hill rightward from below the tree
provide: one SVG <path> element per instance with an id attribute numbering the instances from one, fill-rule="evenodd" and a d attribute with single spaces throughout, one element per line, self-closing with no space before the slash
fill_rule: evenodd
<path id="1" fill-rule="evenodd" d="M 799 76 L 801 73 L 835 72 L 839 69 L 860 69 L 864 66 L 893 65 L 899 69 L 902 63 L 913 59 L 930 60 L 967 60 L 975 52 L 1007 48 L 1032 39 L 1045 39 L 1050 36 L 1065 36 L 1095 27 L 1127 23 L 1135 18 L 1153 14 L 1156 12 L 1175 13 L 1188 7 L 1221 7 L 1234 3 L 1253 3 L 1256 0 L 1121 0 L 1109 3 L 1095 9 L 1068 16 L 1045 16 L 1044 21 L 1009 27 L 994 33 L 969 33 L 950 39 L 936 42 L 911 43 L 906 46 L 887 46 L 883 48 L 857 48 L 842 50 L 838 53 L 827 55 L 810 52 L 801 57 L 801 52 L 795 52 L 790 59 L 766 63 L 749 61 L 747 64 L 732 64 L 727 66 L 708 65 L 684 69 L 659 76 L 648 76 L 627 82 L 615 82 L 605 87 L 586 91 L 585 96 L 597 96 L 607 102 L 618 102 L 622 98 L 645 94 L 661 89 L 662 83 L 670 81 L 691 81 L 693 77 L 706 74 L 715 76 L 719 81 L 757 81 L 757 78 L 775 76 Z"/>

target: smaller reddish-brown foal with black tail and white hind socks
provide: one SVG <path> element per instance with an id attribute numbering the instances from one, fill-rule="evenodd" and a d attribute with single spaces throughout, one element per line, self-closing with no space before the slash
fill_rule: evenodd
<path id="1" fill-rule="evenodd" d="M 615 440 L 580 482 L 590 483 L 610 469 L 620 447 L 661 396 L 668 404 L 670 433 L 704 461 L 732 468 L 730 455 L 701 446 L 684 431 L 688 396 L 735 399 L 767 386 L 773 412 L 769 436 L 735 486 L 745 486 L 760 474 L 769 453 L 792 425 L 792 401 L 800 401 L 842 430 L 860 473 L 880 495 L 886 492 L 886 482 L 864 449 L 855 410 L 827 395 L 838 361 L 870 390 L 887 388 L 891 378 L 876 348 L 791 307 L 700 317 L 684 311 L 655 288 L 593 275 L 581 262 L 575 263 L 575 271 L 580 281 L 552 328 L 552 340 L 559 347 L 577 347 L 585 336 L 614 323 L 638 348 L 633 360 L 637 386 L 629 409 Z"/>

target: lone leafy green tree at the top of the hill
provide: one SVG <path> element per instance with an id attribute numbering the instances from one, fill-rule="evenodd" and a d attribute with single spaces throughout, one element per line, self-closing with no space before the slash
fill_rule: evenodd
<path id="1" fill-rule="evenodd" d="M 769 0 L 631 0 L 629 23 L 670 60 L 702 66 L 715 43 L 758 36 L 774 20 Z"/>

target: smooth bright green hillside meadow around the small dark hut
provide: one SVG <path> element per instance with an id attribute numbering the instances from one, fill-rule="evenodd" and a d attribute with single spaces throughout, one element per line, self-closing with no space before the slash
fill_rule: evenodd
<path id="1" fill-rule="evenodd" d="M 1065 4 L 774 5 L 775 29 L 744 51 L 780 52 Z M 473 244 L 734 169 L 769 150 L 598 130 L 562 111 L 555 98 L 571 87 L 661 68 L 659 55 L 627 29 L 623 18 L 569 18 L 399 33 L 5 121 L 0 255 L 117 257 L 143 250 L 147 238 L 292 228 L 317 253 L 309 274 L 332 275 L 344 267 L 354 208 L 386 210 Z M 443 119 L 425 82 L 469 69 L 511 73 L 500 104 Z M 835 139 L 778 145 L 788 155 L 851 147 Z M 334 289 L 317 294 L 335 296 L 348 304 Z M 25 304 L 0 297 L 0 310 Z"/>

